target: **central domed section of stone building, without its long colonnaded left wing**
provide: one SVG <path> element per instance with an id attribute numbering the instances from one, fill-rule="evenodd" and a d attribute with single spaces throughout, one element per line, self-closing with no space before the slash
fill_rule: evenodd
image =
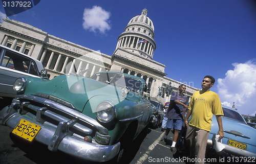
<path id="1" fill-rule="evenodd" d="M 163 100 L 170 80 L 165 82 L 165 65 L 153 60 L 156 50 L 154 30 L 152 20 L 147 17 L 147 9 L 133 17 L 118 37 L 111 71 L 143 78 L 151 90 L 151 96 Z"/>

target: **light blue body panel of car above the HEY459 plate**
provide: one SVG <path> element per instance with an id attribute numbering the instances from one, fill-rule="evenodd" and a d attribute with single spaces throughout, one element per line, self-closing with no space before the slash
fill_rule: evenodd
<path id="1" fill-rule="evenodd" d="M 224 129 L 225 139 L 234 139 L 249 145 L 256 145 L 256 129 L 236 120 L 222 117 L 222 125 Z M 212 117 L 211 131 L 212 134 L 217 134 L 219 126 L 215 116 Z M 247 138 L 249 137 L 249 138 Z M 226 143 L 224 143 L 226 144 Z"/>

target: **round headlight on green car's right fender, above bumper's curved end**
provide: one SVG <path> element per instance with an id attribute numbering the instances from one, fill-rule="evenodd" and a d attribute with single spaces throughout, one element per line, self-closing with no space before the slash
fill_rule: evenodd
<path id="1" fill-rule="evenodd" d="M 112 102 L 104 101 L 97 106 L 97 118 L 99 121 L 106 123 L 115 118 L 116 108 Z"/>

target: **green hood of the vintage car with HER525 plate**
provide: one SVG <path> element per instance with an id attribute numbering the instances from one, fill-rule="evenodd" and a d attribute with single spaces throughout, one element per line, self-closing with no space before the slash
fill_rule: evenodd
<path id="1" fill-rule="evenodd" d="M 76 110 L 83 111 L 86 103 L 95 96 L 117 97 L 120 88 L 78 76 L 58 76 L 49 81 L 35 82 L 31 79 L 25 94 L 44 93 L 72 103 Z"/>

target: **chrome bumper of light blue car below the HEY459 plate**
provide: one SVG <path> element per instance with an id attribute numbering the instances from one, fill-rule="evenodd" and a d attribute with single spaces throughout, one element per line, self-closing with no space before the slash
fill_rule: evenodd
<path id="1" fill-rule="evenodd" d="M 207 146 L 214 146 L 215 144 L 215 140 L 213 139 L 208 139 L 207 140 Z M 235 147 L 232 147 L 232 146 L 229 146 L 229 145 L 226 145 L 226 144 L 222 144 L 225 146 L 225 148 L 222 150 L 228 154 L 232 154 L 232 155 L 237 155 L 237 156 L 245 156 L 245 157 L 256 157 L 256 154 L 255 153 L 252 153 L 252 152 L 249 152 L 249 151 L 246 151 L 246 150 L 242 150 L 242 149 L 238 149 L 238 148 L 235 148 Z"/>

